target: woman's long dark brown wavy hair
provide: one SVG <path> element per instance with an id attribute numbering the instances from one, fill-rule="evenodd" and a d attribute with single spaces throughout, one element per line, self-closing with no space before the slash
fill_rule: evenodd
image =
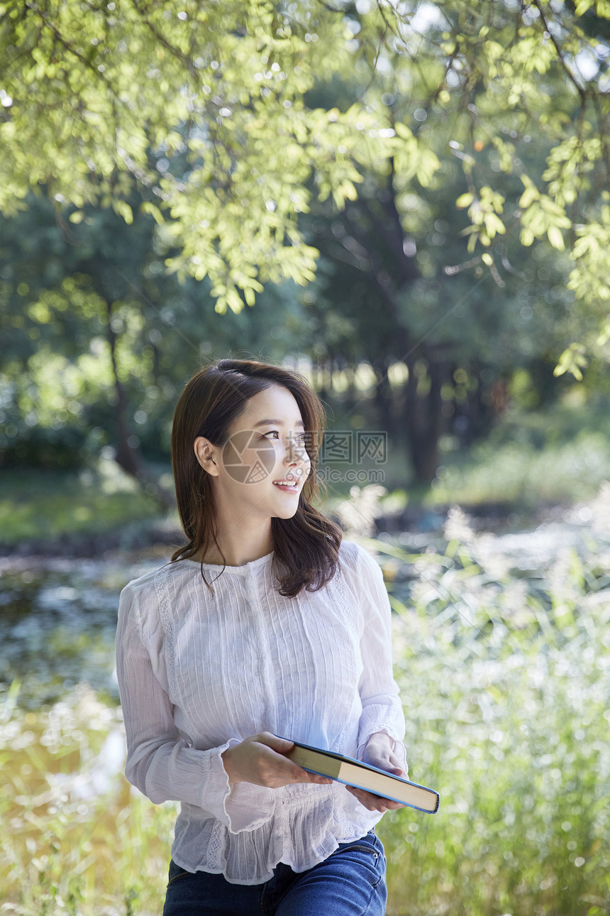
<path id="1" fill-rule="evenodd" d="M 319 495 L 316 462 L 326 428 L 320 398 L 298 372 L 254 360 L 217 359 L 204 365 L 187 382 L 174 412 L 172 470 L 178 513 L 188 543 L 172 556 L 172 562 L 188 560 L 200 549 L 202 556 L 212 542 L 224 561 L 216 540 L 217 512 L 209 474 L 198 463 L 193 442 L 205 436 L 213 445 L 229 439 L 230 425 L 246 402 L 271 385 L 282 385 L 293 395 L 305 423 L 305 448 L 311 461 L 293 518 L 272 518 L 274 572 L 280 594 L 294 597 L 302 588 L 315 592 L 337 570 L 342 532 L 330 518 L 311 505 Z M 226 563 L 225 563 L 226 565 Z M 224 568 L 224 567 L 223 567 Z M 211 589 L 201 564 L 201 576 Z"/>

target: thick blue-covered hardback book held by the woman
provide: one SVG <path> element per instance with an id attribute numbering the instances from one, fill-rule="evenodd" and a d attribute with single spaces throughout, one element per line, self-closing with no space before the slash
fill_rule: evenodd
<path id="1" fill-rule="evenodd" d="M 293 738 L 278 735 L 284 741 Z M 325 750 L 322 747 L 312 747 L 300 741 L 294 741 L 294 747 L 284 753 L 299 767 L 320 776 L 327 776 L 331 780 L 343 782 L 345 785 L 364 789 L 374 795 L 400 802 L 427 814 L 438 811 L 440 802 L 439 794 L 427 786 L 417 782 L 405 780 L 401 776 L 393 776 L 383 769 L 373 767 L 362 760 L 337 754 L 335 751 Z"/>

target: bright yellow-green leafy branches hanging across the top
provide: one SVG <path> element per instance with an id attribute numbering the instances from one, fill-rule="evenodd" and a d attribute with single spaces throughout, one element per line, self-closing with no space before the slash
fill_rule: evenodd
<path id="1" fill-rule="evenodd" d="M 142 210 L 177 247 L 166 266 L 209 277 L 217 309 L 240 311 L 264 283 L 311 280 L 318 251 L 299 214 L 316 200 L 341 208 L 367 172 L 391 176 L 406 234 L 412 195 L 458 163 L 470 267 L 501 282 L 511 236 L 544 240 L 571 259 L 583 311 L 605 321 L 607 0 L 2 11 L 5 213 L 44 184 L 59 209 L 101 202 L 131 223 L 144 186 Z M 335 77 L 358 86 L 349 104 L 310 104 Z M 605 354 L 604 331 L 593 340 Z M 578 375 L 570 354 L 559 371 Z"/>

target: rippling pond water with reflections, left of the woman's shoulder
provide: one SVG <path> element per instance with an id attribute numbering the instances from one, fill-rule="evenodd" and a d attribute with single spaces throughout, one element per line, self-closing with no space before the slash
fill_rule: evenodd
<path id="1" fill-rule="evenodd" d="M 160 551 L 100 560 L 0 559 L 0 682 L 21 682 L 26 709 L 80 682 L 118 703 L 114 633 L 123 585 L 166 560 Z"/>

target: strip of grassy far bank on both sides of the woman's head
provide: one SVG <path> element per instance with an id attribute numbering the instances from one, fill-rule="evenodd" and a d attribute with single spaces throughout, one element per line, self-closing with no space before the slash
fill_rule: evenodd
<path id="1" fill-rule="evenodd" d="M 389 491 L 381 507 L 389 511 L 407 504 L 499 503 L 508 513 L 529 512 L 543 503 L 588 500 L 610 479 L 610 410 L 603 404 L 593 409 L 567 402 L 545 411 L 508 411 L 487 439 L 470 449 L 458 448 L 455 438 L 444 436 L 440 461 L 433 485 L 413 485 L 406 455 L 391 447 L 386 463 L 370 465 L 383 472 L 380 483 Z M 164 470 L 162 481 L 171 486 L 171 475 Z M 329 484 L 323 507 L 334 511 L 353 485 Z M 362 488 L 366 482 L 356 485 Z M 152 496 L 108 460 L 95 473 L 32 469 L 0 475 L 0 543 L 5 545 L 103 533 L 162 518 Z"/>

